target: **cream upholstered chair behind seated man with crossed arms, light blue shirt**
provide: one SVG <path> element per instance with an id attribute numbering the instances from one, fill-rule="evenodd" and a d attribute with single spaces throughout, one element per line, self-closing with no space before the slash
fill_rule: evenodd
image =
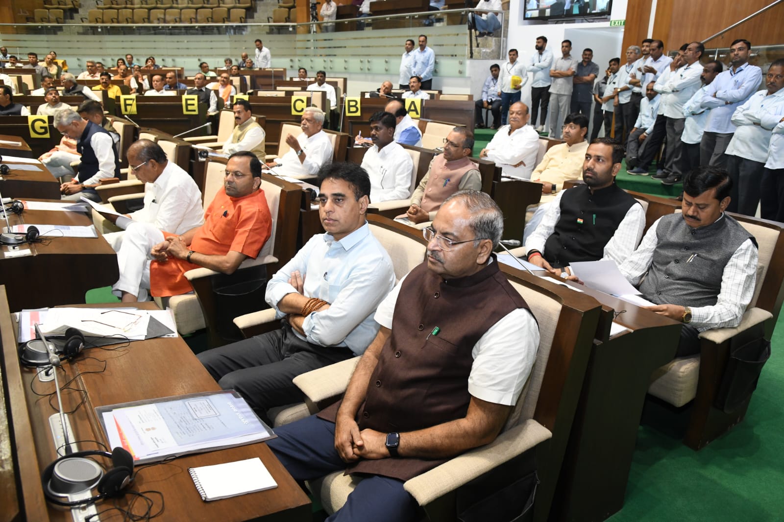
<path id="1" fill-rule="evenodd" d="M 394 223 L 383 216 L 368 215 L 368 223 L 371 233 L 383 245 L 384 249 L 392 259 L 395 280 L 408 274 L 415 266 L 422 263 L 425 257 L 426 241 L 421 234 L 399 223 Z M 268 332 L 279 327 L 279 322 L 275 320 L 274 309 L 261 310 L 252 314 L 246 314 L 234 319 L 234 324 L 243 332 L 245 337 L 251 337 L 261 332 Z M 351 375 L 354 366 L 359 361 L 359 357 L 354 357 L 347 361 L 336 364 L 341 372 Z M 337 383 L 339 379 L 333 379 Z M 273 426 L 281 426 L 304 419 L 310 413 L 318 411 L 314 404 L 287 404 L 278 408 L 270 408 L 267 412 Z"/>

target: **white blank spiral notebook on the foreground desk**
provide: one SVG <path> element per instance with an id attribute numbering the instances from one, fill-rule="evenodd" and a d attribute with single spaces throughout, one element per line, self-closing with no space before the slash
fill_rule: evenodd
<path id="1" fill-rule="evenodd" d="M 278 483 L 258 457 L 188 468 L 188 473 L 191 473 L 196 490 L 205 502 L 278 488 Z"/>

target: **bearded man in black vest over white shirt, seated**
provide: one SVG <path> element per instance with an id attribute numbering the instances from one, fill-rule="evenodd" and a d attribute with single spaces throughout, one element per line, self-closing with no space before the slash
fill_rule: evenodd
<path id="1" fill-rule="evenodd" d="M 525 241 L 530 263 L 567 277 L 572 261 L 622 263 L 630 256 L 642 237 L 645 211 L 615 184 L 622 158 L 623 147 L 615 140 L 590 143 L 583 161 L 585 184 L 559 192 Z"/>

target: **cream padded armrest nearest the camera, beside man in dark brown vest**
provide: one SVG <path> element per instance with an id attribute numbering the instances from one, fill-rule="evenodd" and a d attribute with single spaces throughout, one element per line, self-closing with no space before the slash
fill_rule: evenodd
<path id="1" fill-rule="evenodd" d="M 539 422 L 528 419 L 501 433 L 490 444 L 467 451 L 441 466 L 407 480 L 403 487 L 416 498 L 419 506 L 425 506 L 552 436 L 553 433 Z"/>

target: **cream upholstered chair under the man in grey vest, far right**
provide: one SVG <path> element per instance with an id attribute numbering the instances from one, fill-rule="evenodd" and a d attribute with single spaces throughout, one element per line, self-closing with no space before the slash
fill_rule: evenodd
<path id="1" fill-rule="evenodd" d="M 680 212 L 680 209 L 677 210 Z M 648 393 L 675 408 L 691 404 L 684 443 L 700 449 L 742 421 L 750 398 L 735 411 L 713 406 L 727 365 L 729 351 L 753 339 L 770 339 L 782 302 L 784 235 L 779 223 L 735 216 L 755 237 L 758 246 L 754 294 L 735 328 L 713 328 L 699 335 L 701 351 L 677 357 L 652 375 Z M 777 304 L 778 303 L 778 304 Z"/>

